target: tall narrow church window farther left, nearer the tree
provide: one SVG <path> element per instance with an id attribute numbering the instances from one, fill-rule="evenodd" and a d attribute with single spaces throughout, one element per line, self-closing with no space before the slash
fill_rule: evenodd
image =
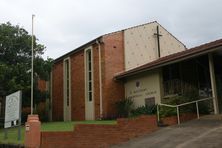
<path id="1" fill-rule="evenodd" d="M 65 96 L 66 96 L 66 105 L 69 106 L 69 99 L 70 99 L 70 64 L 69 59 L 64 61 L 65 63 Z"/>

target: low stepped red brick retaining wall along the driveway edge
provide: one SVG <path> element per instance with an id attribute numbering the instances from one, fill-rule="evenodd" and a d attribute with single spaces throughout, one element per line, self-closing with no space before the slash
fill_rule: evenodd
<path id="1" fill-rule="evenodd" d="M 106 148 L 157 130 L 156 116 L 118 119 L 116 125 L 78 124 L 70 132 L 42 132 L 42 148 Z"/>

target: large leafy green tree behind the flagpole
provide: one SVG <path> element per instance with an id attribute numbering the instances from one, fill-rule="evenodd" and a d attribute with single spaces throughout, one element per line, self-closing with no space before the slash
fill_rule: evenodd
<path id="1" fill-rule="evenodd" d="M 31 37 L 18 25 L 13 26 L 9 22 L 0 24 L 0 96 L 22 90 L 23 106 L 30 106 Z M 45 46 L 37 41 L 34 37 L 34 73 L 48 80 L 52 59 L 45 61 L 41 57 Z M 34 88 L 37 89 L 36 86 Z"/>

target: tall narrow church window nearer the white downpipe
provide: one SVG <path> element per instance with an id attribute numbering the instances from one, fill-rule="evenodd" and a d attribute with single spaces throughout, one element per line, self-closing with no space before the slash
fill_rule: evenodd
<path id="1" fill-rule="evenodd" d="M 92 51 L 86 51 L 86 84 L 87 84 L 87 98 L 92 101 Z"/>

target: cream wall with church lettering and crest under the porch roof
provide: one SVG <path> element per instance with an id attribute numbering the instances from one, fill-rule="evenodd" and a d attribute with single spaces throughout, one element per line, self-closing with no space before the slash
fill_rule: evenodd
<path id="1" fill-rule="evenodd" d="M 127 80 L 125 83 L 126 98 L 134 101 L 135 106 L 143 106 L 147 102 L 160 102 L 159 72 L 154 71 L 145 76 Z"/>

